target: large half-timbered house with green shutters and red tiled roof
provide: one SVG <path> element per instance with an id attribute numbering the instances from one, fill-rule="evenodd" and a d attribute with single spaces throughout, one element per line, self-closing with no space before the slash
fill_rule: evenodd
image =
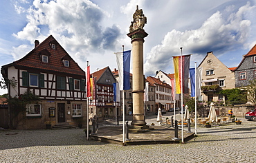
<path id="1" fill-rule="evenodd" d="M 30 90 L 41 99 L 27 106 L 26 117 L 19 122 L 18 129 L 44 129 L 46 122 L 53 127 L 86 124 L 84 71 L 53 36 L 42 43 L 36 40 L 31 52 L 3 65 L 1 74 L 17 80 L 16 87 L 8 87 L 10 97 L 19 97 Z"/>

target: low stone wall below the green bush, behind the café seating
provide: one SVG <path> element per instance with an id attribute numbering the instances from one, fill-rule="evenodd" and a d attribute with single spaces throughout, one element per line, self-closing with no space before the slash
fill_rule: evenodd
<path id="1" fill-rule="evenodd" d="M 219 109 L 219 116 L 228 116 L 228 110 L 232 109 L 234 115 L 237 117 L 244 117 L 246 112 L 254 109 L 253 106 L 243 106 L 243 105 L 215 107 L 215 108 Z"/>

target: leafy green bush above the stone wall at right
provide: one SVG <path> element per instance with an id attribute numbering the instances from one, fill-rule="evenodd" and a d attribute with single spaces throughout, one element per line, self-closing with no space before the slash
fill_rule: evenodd
<path id="1" fill-rule="evenodd" d="M 238 88 L 223 89 L 219 91 L 218 94 L 223 94 L 224 96 L 226 96 L 226 104 L 241 104 L 247 102 L 246 91 Z"/>

